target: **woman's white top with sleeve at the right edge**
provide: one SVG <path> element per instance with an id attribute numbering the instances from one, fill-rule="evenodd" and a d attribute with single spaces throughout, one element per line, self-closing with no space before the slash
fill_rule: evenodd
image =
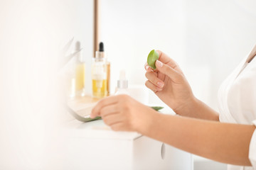
<path id="1" fill-rule="evenodd" d="M 256 46 L 253 51 L 255 50 Z M 220 122 L 256 125 L 256 57 L 249 64 L 245 64 L 246 60 L 247 57 L 220 86 Z M 228 165 L 228 169 L 256 169 L 256 130 L 250 141 L 248 157 L 252 166 Z"/>

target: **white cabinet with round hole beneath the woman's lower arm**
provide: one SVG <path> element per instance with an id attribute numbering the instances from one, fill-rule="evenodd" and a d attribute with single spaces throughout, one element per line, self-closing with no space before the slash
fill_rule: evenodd
<path id="1" fill-rule="evenodd" d="M 62 145 L 61 169 L 193 169 L 191 154 L 137 132 L 114 132 L 102 120 L 73 120 Z"/>

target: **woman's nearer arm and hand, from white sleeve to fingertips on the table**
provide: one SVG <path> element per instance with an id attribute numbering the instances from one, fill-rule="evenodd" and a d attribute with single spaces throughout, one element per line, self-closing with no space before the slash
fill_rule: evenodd
<path id="1" fill-rule="evenodd" d="M 163 115 L 127 95 L 102 99 L 92 109 L 91 118 L 98 115 L 112 130 L 137 131 L 208 159 L 250 166 L 248 152 L 253 125 Z"/>

